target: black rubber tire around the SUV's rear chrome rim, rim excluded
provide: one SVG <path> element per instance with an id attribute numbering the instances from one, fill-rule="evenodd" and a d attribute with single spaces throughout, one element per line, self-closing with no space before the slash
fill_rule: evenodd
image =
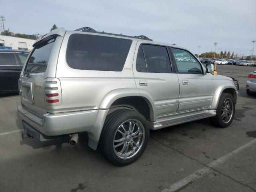
<path id="1" fill-rule="evenodd" d="M 144 127 L 144 140 L 140 149 L 131 158 L 122 159 L 114 151 L 114 137 L 120 125 L 127 120 L 136 120 Z M 142 114 L 133 110 L 120 109 L 112 112 L 106 118 L 101 136 L 101 149 L 104 156 L 117 166 L 126 166 L 135 162 L 143 154 L 149 139 L 148 122 Z M 126 143 L 126 141 L 124 141 Z"/>

